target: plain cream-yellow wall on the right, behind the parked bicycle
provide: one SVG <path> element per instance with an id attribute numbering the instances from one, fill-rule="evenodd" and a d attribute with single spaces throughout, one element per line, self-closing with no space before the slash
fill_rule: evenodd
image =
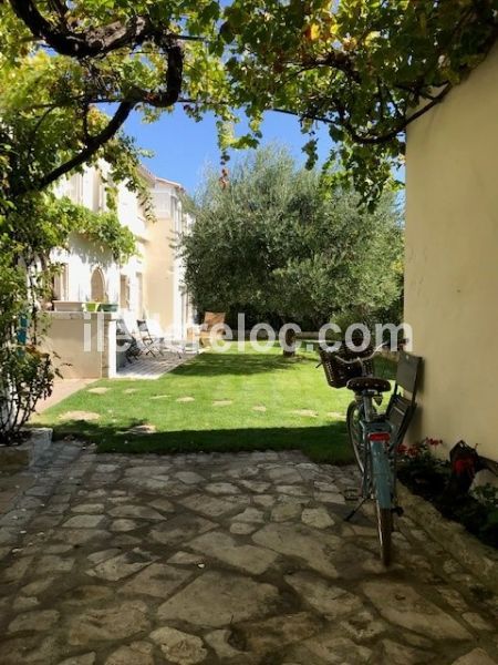
<path id="1" fill-rule="evenodd" d="M 498 49 L 408 129 L 405 320 L 425 362 L 409 438 L 498 459 Z"/>

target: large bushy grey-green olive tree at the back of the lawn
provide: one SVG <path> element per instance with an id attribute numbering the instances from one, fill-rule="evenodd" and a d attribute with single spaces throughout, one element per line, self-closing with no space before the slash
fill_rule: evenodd
<path id="1" fill-rule="evenodd" d="M 362 318 L 400 296 L 401 219 L 393 195 L 375 212 L 325 187 L 284 149 L 239 162 L 228 182 L 207 174 L 180 238 L 186 286 L 201 310 L 249 307 L 280 324 Z"/>

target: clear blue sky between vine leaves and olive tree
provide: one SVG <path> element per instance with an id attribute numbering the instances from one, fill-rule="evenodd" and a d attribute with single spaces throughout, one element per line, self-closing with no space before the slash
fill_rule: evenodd
<path id="1" fill-rule="evenodd" d="M 158 122 L 145 124 L 139 113 L 134 112 L 125 124 L 125 132 L 134 136 L 137 145 L 154 151 L 145 165 L 156 175 L 181 183 L 193 193 L 199 185 L 203 170 L 211 164 L 219 167 L 215 119 L 206 115 L 199 123 L 190 120 L 181 106 L 165 114 Z M 301 134 L 297 117 L 269 112 L 262 124 L 262 144 L 278 141 L 287 145 L 299 162 L 304 162 L 301 152 L 307 136 Z M 331 149 L 325 127 L 319 129 L 319 155 L 323 161 Z M 232 158 L 236 158 L 234 155 Z"/>

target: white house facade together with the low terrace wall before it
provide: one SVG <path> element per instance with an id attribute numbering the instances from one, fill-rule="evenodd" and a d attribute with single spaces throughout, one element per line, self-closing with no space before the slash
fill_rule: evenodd
<path id="1" fill-rule="evenodd" d="M 104 212 L 106 175 L 106 164 L 98 168 L 86 167 L 83 173 L 61 182 L 58 195 L 69 196 L 73 203 L 93 212 Z M 193 224 L 191 217 L 183 211 L 183 187 L 145 168 L 142 176 L 151 191 L 155 222 L 146 218 L 134 192 L 124 184 L 120 184 L 117 191 L 117 216 L 135 236 L 135 256 L 120 265 L 108 249 L 79 233 L 72 233 L 68 247 L 52 255 L 61 269 L 53 285 L 48 347 L 61 358 L 63 376 L 113 376 L 115 323 L 112 321 L 117 318 L 123 318 L 132 332 L 136 330 L 137 320 L 153 320 L 155 328 L 172 340 L 186 339 L 191 328 L 193 308 L 183 286 L 183 264 L 175 249 L 178 234 Z M 108 309 L 117 311 L 105 315 L 111 321 L 105 324 L 105 350 L 100 348 L 101 357 L 91 357 L 92 354 L 83 349 L 84 336 L 89 336 L 84 329 L 89 319 L 85 313 L 93 311 L 96 304 L 111 305 Z M 108 357 L 104 359 L 102 354 Z"/>

